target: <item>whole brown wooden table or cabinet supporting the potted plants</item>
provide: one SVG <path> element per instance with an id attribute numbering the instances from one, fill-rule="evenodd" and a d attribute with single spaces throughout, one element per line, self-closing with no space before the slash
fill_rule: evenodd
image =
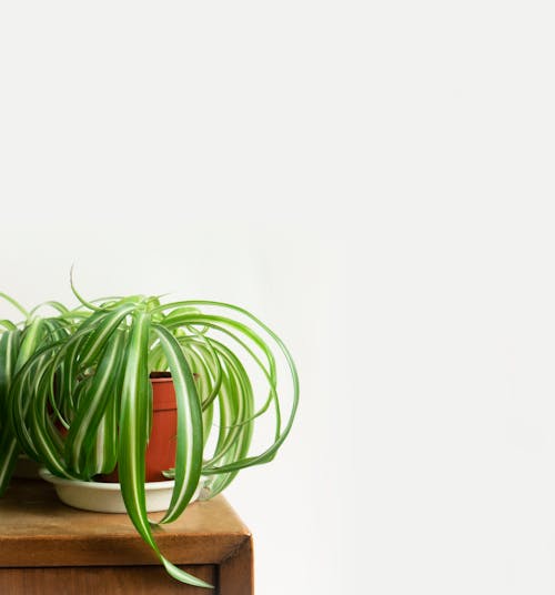
<path id="1" fill-rule="evenodd" d="M 223 496 L 191 504 L 155 538 L 171 562 L 214 591 L 171 578 L 127 515 L 78 511 L 50 484 L 14 480 L 0 500 L 0 593 L 253 594 L 252 536 Z"/>

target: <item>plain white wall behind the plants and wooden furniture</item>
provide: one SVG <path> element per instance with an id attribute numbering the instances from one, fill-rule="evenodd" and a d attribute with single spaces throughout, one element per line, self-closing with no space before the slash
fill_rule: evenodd
<path id="1" fill-rule="evenodd" d="M 0 290 L 75 262 L 297 361 L 228 491 L 260 595 L 555 592 L 549 4 L 0 3 Z"/>

